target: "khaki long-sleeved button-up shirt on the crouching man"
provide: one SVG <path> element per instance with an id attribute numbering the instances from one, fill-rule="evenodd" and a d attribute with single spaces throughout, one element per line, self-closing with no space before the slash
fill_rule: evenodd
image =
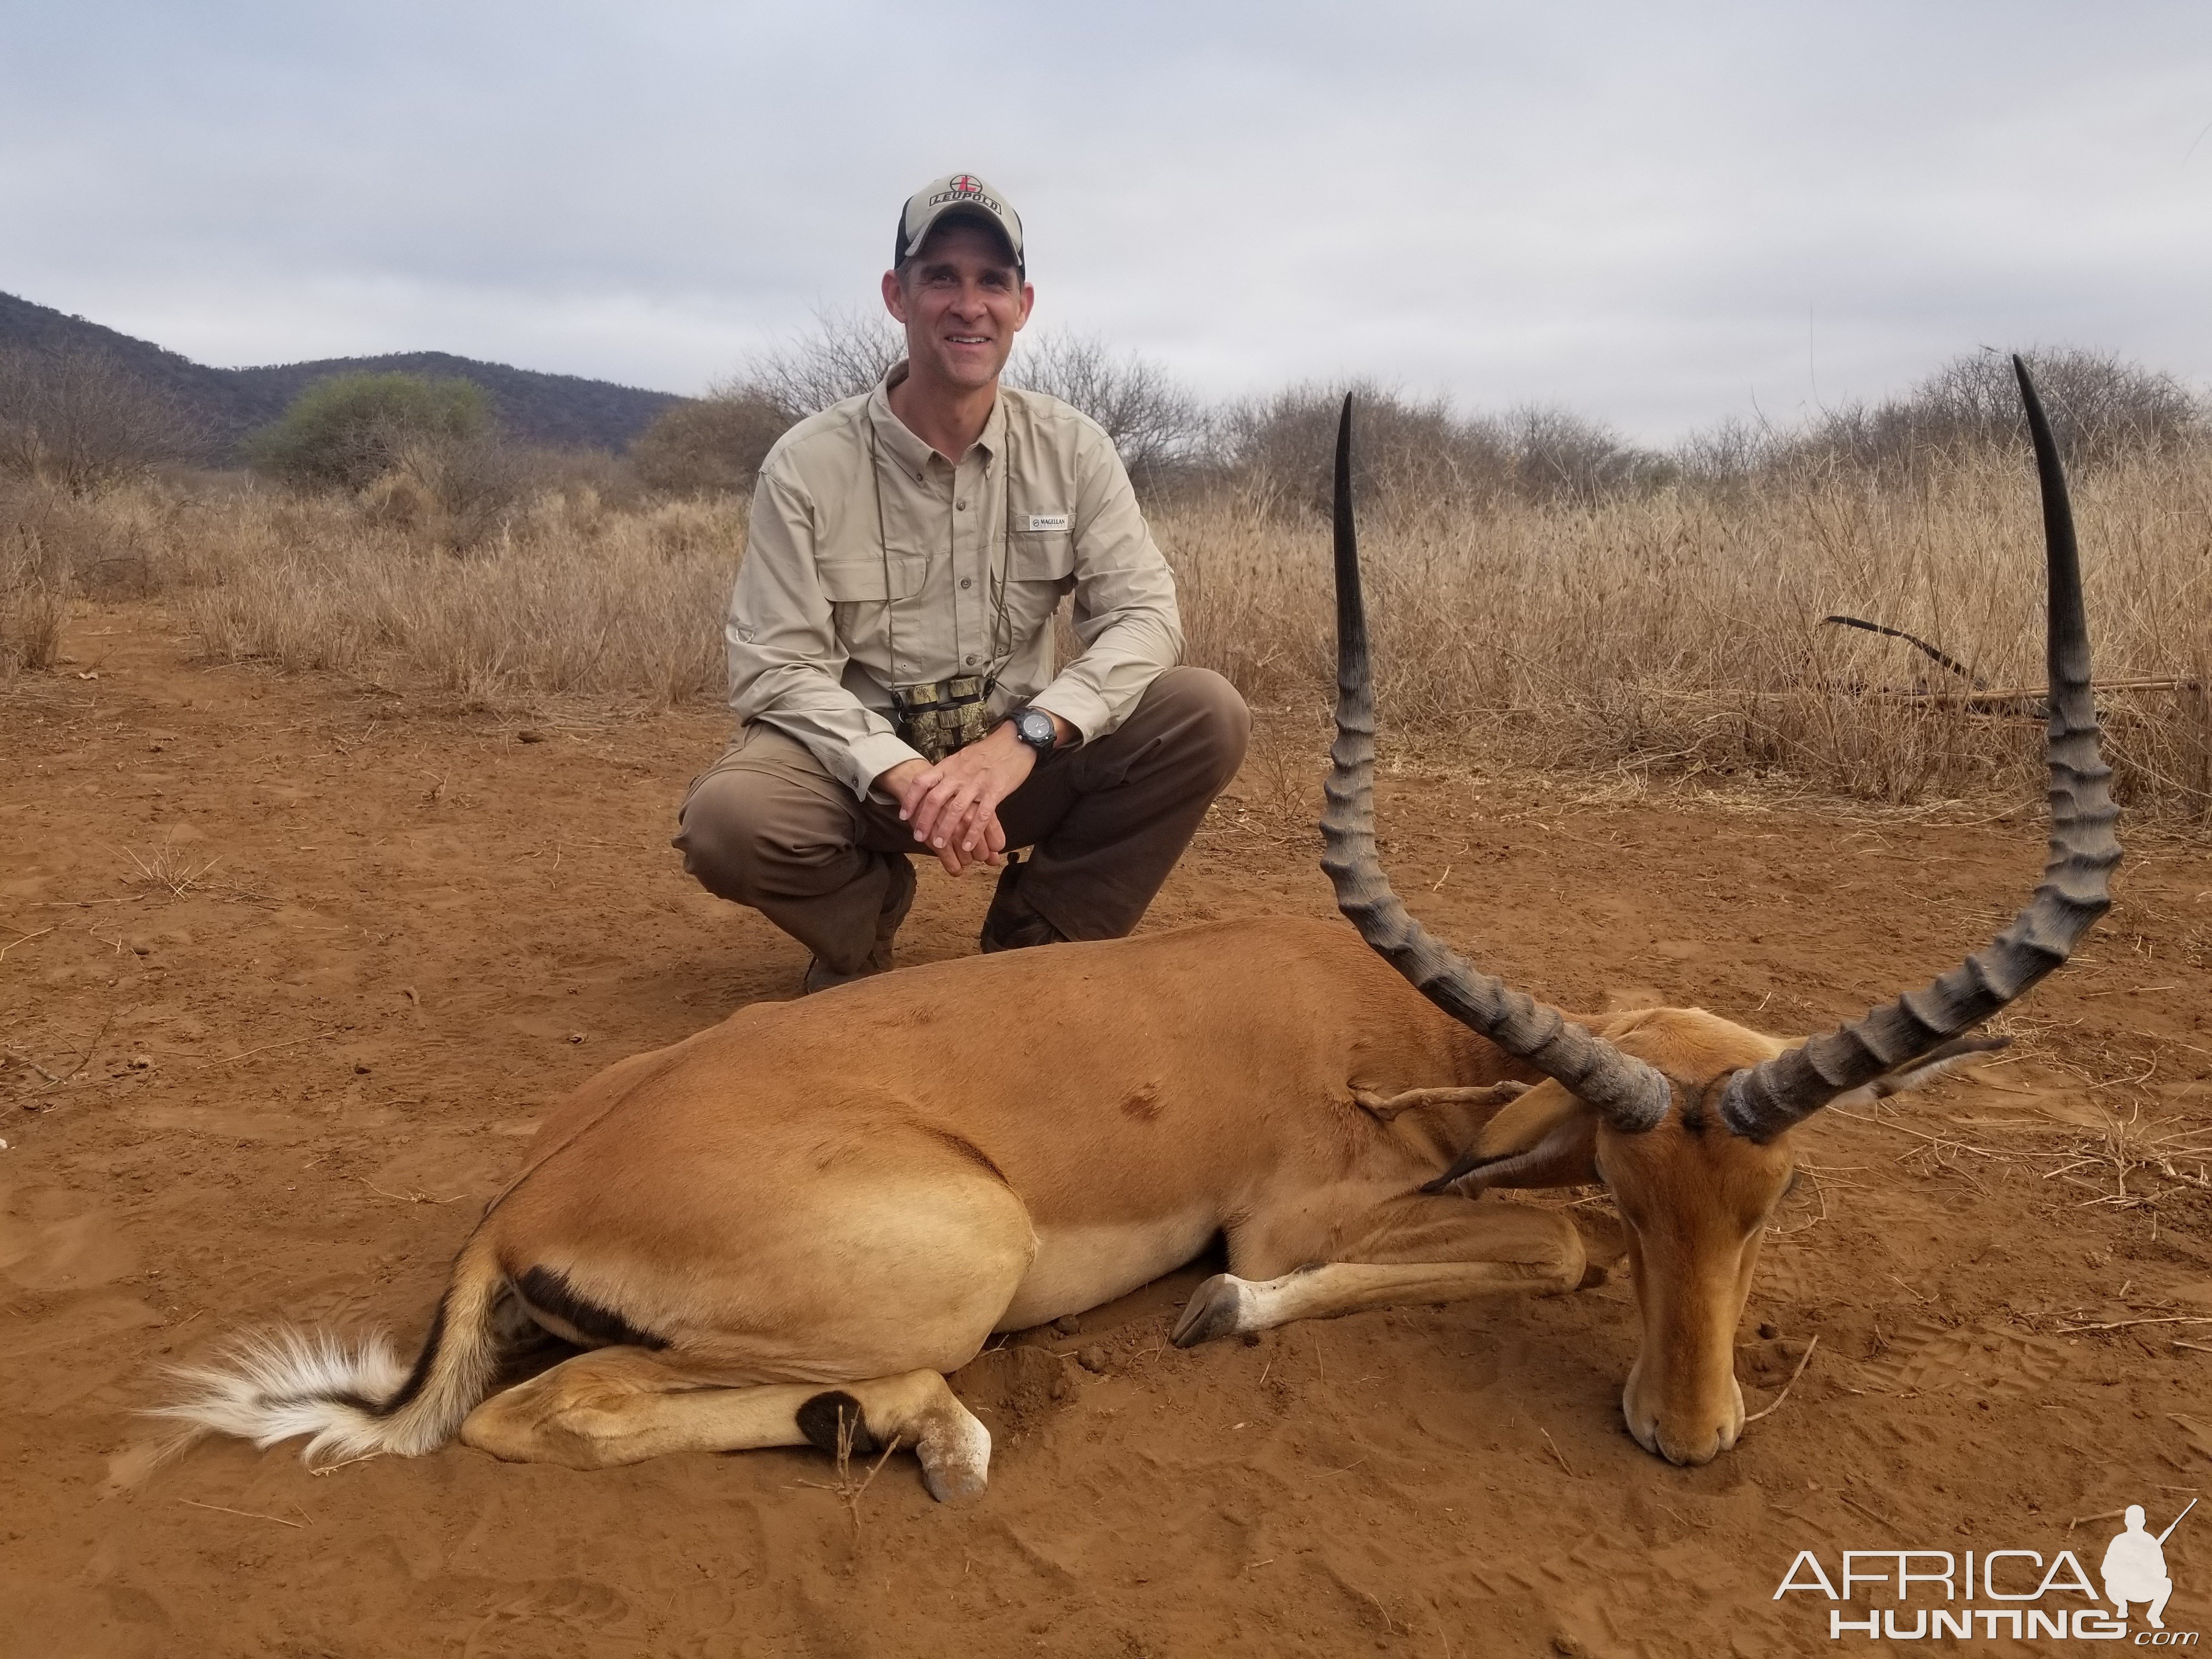
<path id="1" fill-rule="evenodd" d="M 995 675 L 993 714 L 1033 703 L 1093 739 L 1183 650 L 1175 577 L 1095 420 L 1000 387 L 956 467 L 891 414 L 905 374 L 768 451 L 726 630 L 739 719 L 790 732 L 863 796 L 918 759 L 887 717 L 894 686 Z M 1055 675 L 1068 593 L 1084 648 Z"/>

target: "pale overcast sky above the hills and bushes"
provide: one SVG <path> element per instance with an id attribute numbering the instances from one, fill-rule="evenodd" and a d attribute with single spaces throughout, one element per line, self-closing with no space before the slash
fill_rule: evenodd
<path id="1" fill-rule="evenodd" d="M 0 290 L 206 363 L 699 392 L 905 195 L 1035 327 L 1632 436 L 1975 347 L 2212 383 L 2212 4 L 0 0 Z"/>

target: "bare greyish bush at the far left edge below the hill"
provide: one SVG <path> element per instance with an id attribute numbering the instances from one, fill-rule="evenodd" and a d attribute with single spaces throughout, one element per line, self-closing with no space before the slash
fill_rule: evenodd
<path id="1" fill-rule="evenodd" d="M 159 387 L 88 347 L 0 347 L 0 471 L 71 495 L 192 460 L 204 427 Z"/>

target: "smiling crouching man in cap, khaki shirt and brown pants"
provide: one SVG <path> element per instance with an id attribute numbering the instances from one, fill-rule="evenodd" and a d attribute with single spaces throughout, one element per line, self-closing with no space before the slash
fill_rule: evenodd
<path id="1" fill-rule="evenodd" d="M 1243 761 L 1243 699 L 1177 666 L 1175 577 L 1113 440 L 998 383 L 1033 301 L 1013 208 L 973 175 L 927 186 L 883 276 L 905 363 L 761 465 L 741 726 L 675 845 L 814 953 L 807 991 L 891 967 L 911 852 L 1002 865 L 987 951 L 1128 933 Z M 1055 675 L 1071 593 L 1082 655 Z"/>

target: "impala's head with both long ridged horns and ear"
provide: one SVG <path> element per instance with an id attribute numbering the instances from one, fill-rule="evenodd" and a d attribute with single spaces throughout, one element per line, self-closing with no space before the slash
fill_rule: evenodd
<path id="1" fill-rule="evenodd" d="M 1389 889 L 1374 838 L 1374 677 L 1352 524 L 1352 400 L 1336 434 L 1336 743 L 1323 869 L 1360 936 L 1444 1013 L 1551 1082 L 1506 1106 L 1431 1190 L 1604 1181 L 1628 1225 L 1641 1347 L 1621 1409 L 1646 1451 L 1708 1462 L 1743 1431 L 1734 1332 L 1767 1214 L 1790 1186 L 1790 1130 L 1838 1097 L 1953 1053 L 2057 969 L 2110 905 L 2119 863 L 2097 752 L 2073 513 L 2042 403 L 2017 358 L 2035 438 L 2051 591 L 2051 863 L 1991 945 L 1896 1002 L 1787 1046 L 1701 1009 L 1599 1031 L 1509 989 L 1431 938 Z"/>

